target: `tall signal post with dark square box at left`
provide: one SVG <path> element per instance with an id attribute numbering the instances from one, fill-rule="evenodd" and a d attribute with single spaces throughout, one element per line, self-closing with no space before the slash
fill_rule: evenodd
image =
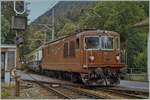
<path id="1" fill-rule="evenodd" d="M 18 11 L 18 9 L 21 9 L 21 8 L 16 8 L 18 6 L 17 3 L 20 3 L 18 4 L 20 7 L 21 6 L 24 7 L 23 11 Z M 17 61 L 16 61 L 17 66 L 16 68 L 11 70 L 11 75 L 15 79 L 15 89 L 16 89 L 15 95 L 16 96 L 19 96 L 19 92 L 20 92 L 20 73 L 19 71 L 17 71 L 17 69 L 20 69 L 22 66 L 22 63 L 21 63 L 22 55 L 21 55 L 20 47 L 22 46 L 24 42 L 23 35 L 21 34 L 21 32 L 25 31 L 27 28 L 27 17 L 22 16 L 22 14 L 24 14 L 26 11 L 25 5 L 26 5 L 25 1 L 14 0 L 14 11 L 16 12 L 16 16 L 12 16 L 11 28 L 12 30 L 16 31 L 15 43 L 17 45 Z"/>

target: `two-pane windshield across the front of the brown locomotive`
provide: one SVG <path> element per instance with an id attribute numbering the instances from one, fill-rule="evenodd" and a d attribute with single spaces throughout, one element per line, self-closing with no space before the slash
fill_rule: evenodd
<path id="1" fill-rule="evenodd" d="M 105 49 L 112 50 L 114 41 L 111 36 L 95 36 L 95 37 L 86 37 L 85 38 L 85 48 L 86 49 Z M 117 42 L 117 43 L 116 43 Z M 118 48 L 118 41 L 115 41 L 116 46 Z"/>

